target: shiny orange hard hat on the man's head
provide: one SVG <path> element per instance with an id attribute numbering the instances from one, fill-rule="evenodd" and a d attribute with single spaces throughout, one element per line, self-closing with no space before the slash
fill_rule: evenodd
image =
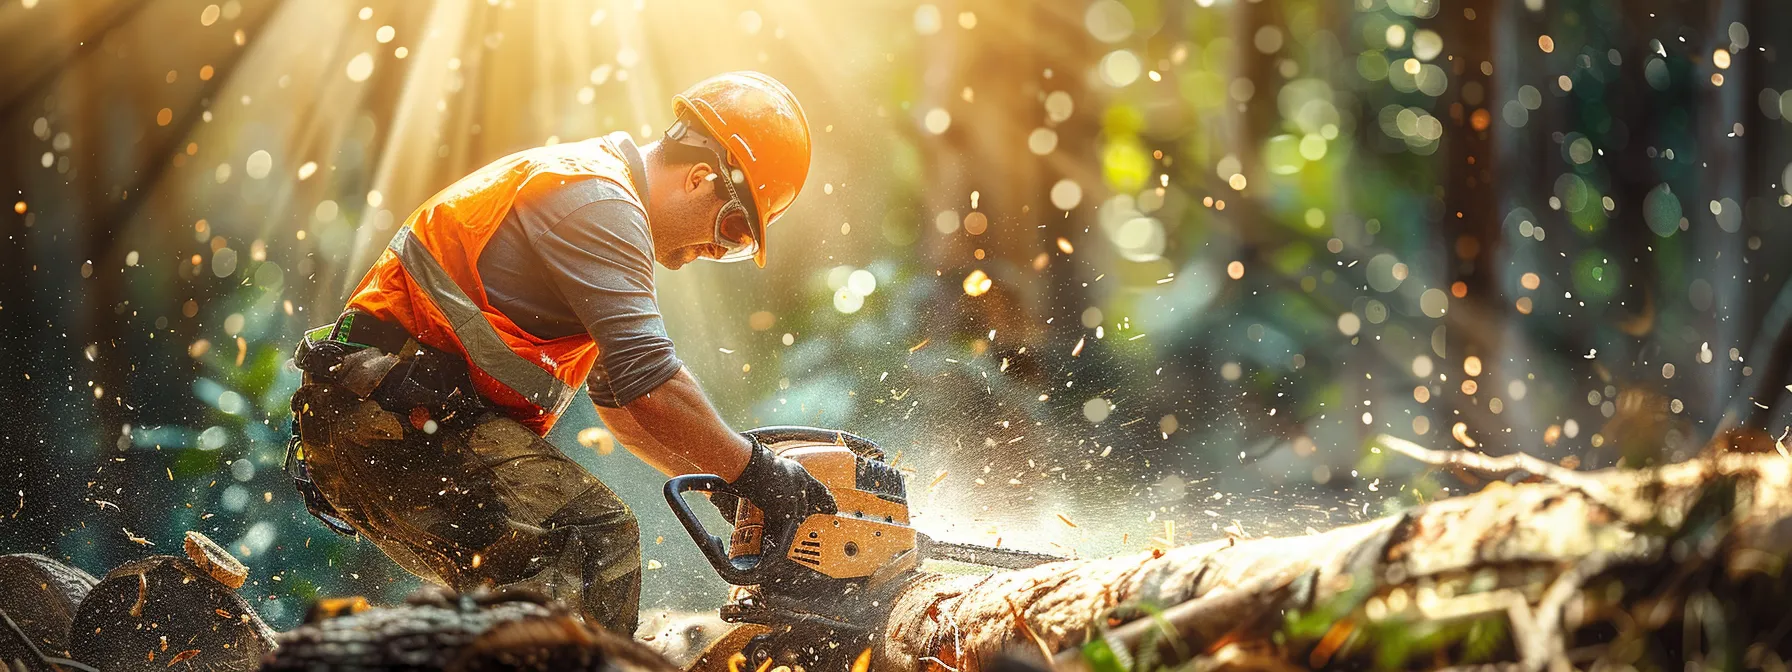
<path id="1" fill-rule="evenodd" d="M 753 195 L 753 262 L 765 267 L 765 228 L 778 220 L 808 179 L 808 118 L 796 95 L 758 72 L 728 72 L 672 97 L 672 113 L 702 125 L 728 149 Z"/>

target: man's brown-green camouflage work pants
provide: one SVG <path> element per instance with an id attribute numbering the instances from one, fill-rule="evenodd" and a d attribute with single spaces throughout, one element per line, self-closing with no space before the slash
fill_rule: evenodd
<path id="1" fill-rule="evenodd" d="M 310 375 L 292 409 L 317 489 L 407 572 L 453 590 L 538 590 L 634 633 L 634 513 L 547 439 L 489 412 L 428 426 Z"/>

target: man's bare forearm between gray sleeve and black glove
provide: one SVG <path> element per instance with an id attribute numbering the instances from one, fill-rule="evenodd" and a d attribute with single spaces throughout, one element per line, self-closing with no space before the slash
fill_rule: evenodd
<path id="1" fill-rule="evenodd" d="M 597 407 L 597 418 L 631 453 L 668 477 L 713 473 L 733 482 L 753 455 L 683 367 L 620 409 Z"/>

